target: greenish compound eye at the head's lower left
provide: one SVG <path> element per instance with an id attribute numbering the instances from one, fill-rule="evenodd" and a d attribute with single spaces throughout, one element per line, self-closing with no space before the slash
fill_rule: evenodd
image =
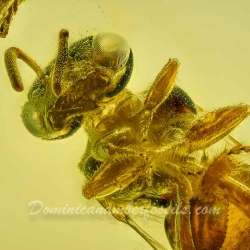
<path id="1" fill-rule="evenodd" d="M 23 106 L 22 115 L 23 123 L 27 130 L 36 137 L 44 137 L 46 134 L 41 112 L 30 102 Z"/>

